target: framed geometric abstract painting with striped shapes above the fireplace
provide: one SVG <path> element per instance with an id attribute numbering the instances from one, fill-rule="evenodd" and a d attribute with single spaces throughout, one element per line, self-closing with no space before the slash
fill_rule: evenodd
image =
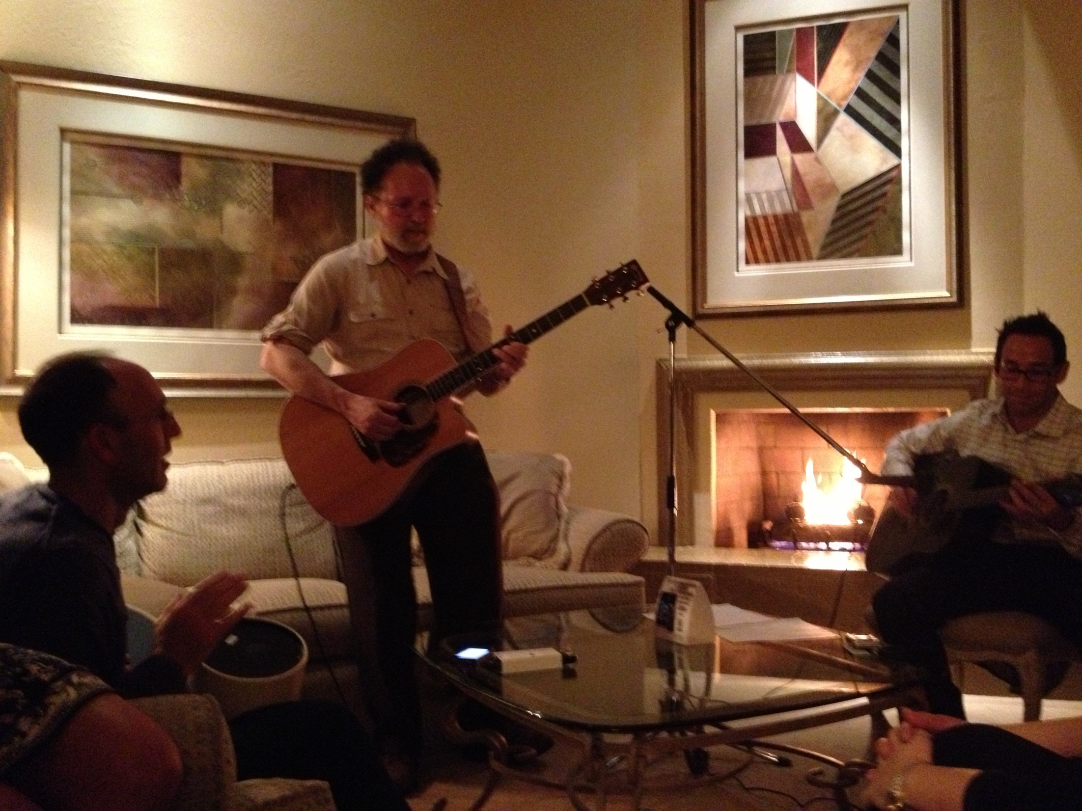
<path id="1" fill-rule="evenodd" d="M 696 314 L 956 305 L 954 0 L 691 9 Z"/>

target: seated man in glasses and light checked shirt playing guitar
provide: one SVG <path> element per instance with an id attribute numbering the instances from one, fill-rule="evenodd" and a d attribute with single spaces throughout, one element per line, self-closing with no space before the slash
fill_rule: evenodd
<path id="1" fill-rule="evenodd" d="M 976 456 L 1010 481 L 998 504 L 958 517 L 936 553 L 911 555 L 872 599 L 892 655 L 925 668 L 932 712 L 964 718 L 938 630 L 980 611 L 1025 611 L 1082 648 L 1082 518 L 1043 484 L 1082 473 L 1082 410 L 1059 394 L 1064 334 L 1044 313 L 1007 320 L 995 346 L 999 396 L 890 440 L 884 475 L 911 475 L 926 454 Z M 889 503 L 912 513 L 912 491 Z"/>

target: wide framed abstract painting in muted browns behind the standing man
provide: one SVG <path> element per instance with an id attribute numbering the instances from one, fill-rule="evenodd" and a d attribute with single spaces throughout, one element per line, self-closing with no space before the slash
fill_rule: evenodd
<path id="1" fill-rule="evenodd" d="M 0 63 L 2 373 L 104 349 L 256 393 L 259 332 L 364 232 L 359 163 L 412 119 Z"/>

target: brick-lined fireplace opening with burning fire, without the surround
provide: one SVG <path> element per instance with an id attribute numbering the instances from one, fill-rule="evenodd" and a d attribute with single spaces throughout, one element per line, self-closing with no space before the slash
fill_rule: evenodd
<path id="1" fill-rule="evenodd" d="M 947 409 L 806 409 L 803 413 L 879 473 L 898 431 Z M 715 412 L 714 545 L 862 551 L 887 488 L 783 409 Z"/>

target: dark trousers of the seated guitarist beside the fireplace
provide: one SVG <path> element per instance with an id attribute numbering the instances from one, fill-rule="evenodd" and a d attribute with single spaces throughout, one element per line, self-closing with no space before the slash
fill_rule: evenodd
<path id="1" fill-rule="evenodd" d="M 1082 562 L 1059 547 L 948 547 L 895 575 L 872 598 L 883 640 L 923 668 L 929 708 L 962 717 L 939 629 L 980 611 L 1025 611 L 1082 647 Z"/>

